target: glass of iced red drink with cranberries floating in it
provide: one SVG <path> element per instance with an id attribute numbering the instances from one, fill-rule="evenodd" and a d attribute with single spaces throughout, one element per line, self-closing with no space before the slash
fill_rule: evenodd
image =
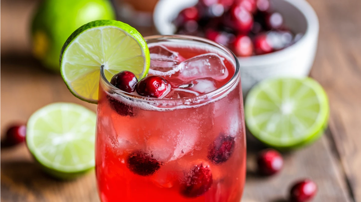
<path id="1" fill-rule="evenodd" d="M 246 145 L 237 60 L 198 37 L 145 40 L 147 77 L 121 72 L 109 83 L 101 75 L 101 201 L 239 202 Z"/>

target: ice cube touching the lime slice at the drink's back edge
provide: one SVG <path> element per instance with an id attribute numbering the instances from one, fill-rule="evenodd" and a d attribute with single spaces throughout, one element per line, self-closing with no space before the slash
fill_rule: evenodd
<path id="1" fill-rule="evenodd" d="M 178 64 L 184 60 L 177 52 L 162 45 L 149 47 L 149 53 L 151 56 L 149 73 L 153 75 L 170 76 L 179 71 Z"/>

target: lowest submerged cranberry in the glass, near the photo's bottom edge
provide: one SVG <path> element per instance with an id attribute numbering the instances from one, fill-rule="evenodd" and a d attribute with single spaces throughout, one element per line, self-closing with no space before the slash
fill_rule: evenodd
<path id="1" fill-rule="evenodd" d="M 181 193 L 186 197 L 198 197 L 210 189 L 213 183 L 212 171 L 206 163 L 195 165 L 181 182 Z"/>

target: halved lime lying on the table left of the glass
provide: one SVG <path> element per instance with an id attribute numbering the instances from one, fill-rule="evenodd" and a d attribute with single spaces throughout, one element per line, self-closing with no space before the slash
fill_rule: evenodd
<path id="1" fill-rule="evenodd" d="M 95 122 L 95 113 L 78 104 L 49 104 L 29 118 L 27 147 L 52 176 L 74 178 L 95 166 Z"/>

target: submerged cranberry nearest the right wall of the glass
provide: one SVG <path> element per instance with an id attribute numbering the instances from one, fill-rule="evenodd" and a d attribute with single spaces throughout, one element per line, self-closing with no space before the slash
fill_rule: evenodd
<path id="1" fill-rule="evenodd" d="M 214 164 L 226 162 L 234 149 L 234 137 L 221 134 L 209 146 L 208 159 Z"/>

